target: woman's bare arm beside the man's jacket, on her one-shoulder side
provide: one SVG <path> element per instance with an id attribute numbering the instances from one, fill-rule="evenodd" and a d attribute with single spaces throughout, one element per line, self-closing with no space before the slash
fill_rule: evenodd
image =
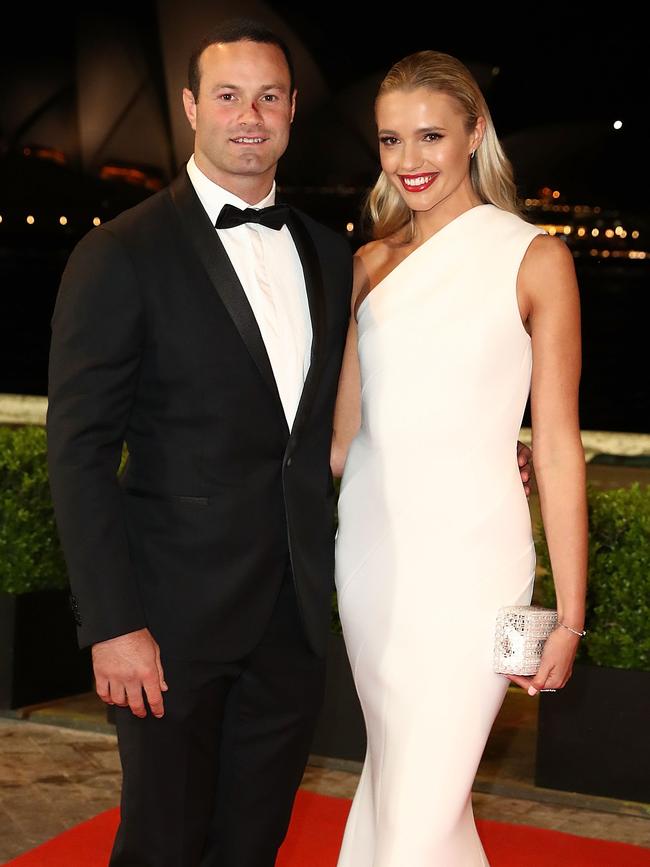
<path id="1" fill-rule="evenodd" d="M 360 293 L 367 288 L 368 277 L 357 253 L 353 260 L 354 277 L 352 284 L 352 301 L 350 306 L 350 324 L 343 352 L 343 364 L 339 377 L 339 388 L 334 408 L 334 435 L 330 466 L 332 475 L 340 477 L 348 456 L 350 443 L 354 439 L 361 424 L 361 373 L 359 370 L 359 355 L 357 353 L 357 320 L 355 307 Z"/>

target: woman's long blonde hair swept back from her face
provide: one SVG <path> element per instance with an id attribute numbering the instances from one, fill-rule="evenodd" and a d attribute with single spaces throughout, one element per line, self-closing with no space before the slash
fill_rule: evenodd
<path id="1" fill-rule="evenodd" d="M 499 143 L 490 110 L 474 76 L 460 60 L 440 51 L 418 51 L 398 61 L 388 72 L 376 101 L 386 93 L 426 88 L 453 97 L 465 115 L 471 132 L 479 117 L 485 120 L 485 133 L 470 164 L 470 180 L 475 193 L 485 204 L 519 213 L 517 190 L 510 160 Z M 386 238 L 406 229 L 402 240 L 413 240 L 413 212 L 382 172 L 366 202 L 374 238 Z"/>

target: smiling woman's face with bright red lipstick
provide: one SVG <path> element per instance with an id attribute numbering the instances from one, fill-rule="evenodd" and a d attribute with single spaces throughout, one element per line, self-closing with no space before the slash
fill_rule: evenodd
<path id="1" fill-rule="evenodd" d="M 456 99 L 426 88 L 384 94 L 376 118 L 381 167 L 409 208 L 428 211 L 443 202 L 461 207 L 468 196 L 474 203 L 469 163 L 483 118 L 468 132 Z"/>

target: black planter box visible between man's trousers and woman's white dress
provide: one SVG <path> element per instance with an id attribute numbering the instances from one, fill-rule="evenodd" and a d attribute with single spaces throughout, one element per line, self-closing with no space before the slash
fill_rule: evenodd
<path id="1" fill-rule="evenodd" d="M 362 762 L 366 753 L 363 714 L 340 635 L 330 635 L 325 700 L 311 753 L 356 762 Z"/>

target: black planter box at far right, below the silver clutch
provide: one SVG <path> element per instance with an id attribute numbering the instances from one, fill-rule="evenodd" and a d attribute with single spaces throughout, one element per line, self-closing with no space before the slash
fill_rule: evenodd
<path id="1" fill-rule="evenodd" d="M 540 694 L 535 785 L 650 802 L 650 672 L 576 665 Z"/>

